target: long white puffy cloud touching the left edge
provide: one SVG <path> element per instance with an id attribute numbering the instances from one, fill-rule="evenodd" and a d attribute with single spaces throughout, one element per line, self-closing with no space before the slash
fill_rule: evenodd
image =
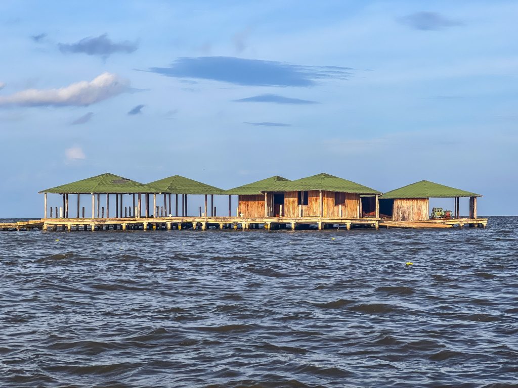
<path id="1" fill-rule="evenodd" d="M 92 81 L 80 81 L 59 89 L 26 89 L 0 96 L 0 107 L 88 106 L 130 90 L 130 81 L 106 72 Z"/>

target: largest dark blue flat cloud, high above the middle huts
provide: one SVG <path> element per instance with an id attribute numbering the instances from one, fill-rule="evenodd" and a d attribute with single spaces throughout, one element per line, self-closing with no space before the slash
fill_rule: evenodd
<path id="1" fill-rule="evenodd" d="M 247 86 L 313 86 L 317 80 L 347 79 L 352 70 L 338 66 L 300 66 L 232 56 L 178 58 L 169 67 L 149 71 L 175 78 L 194 78 Z"/>

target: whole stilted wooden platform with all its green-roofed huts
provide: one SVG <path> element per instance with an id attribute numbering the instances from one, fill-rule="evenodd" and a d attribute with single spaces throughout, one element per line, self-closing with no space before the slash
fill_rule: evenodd
<path id="1" fill-rule="evenodd" d="M 319 230 L 336 226 L 347 230 L 378 230 L 379 227 L 485 228 L 487 225 L 487 218 L 477 218 L 477 197 L 482 197 L 480 194 L 429 181 L 382 193 L 325 173 L 295 181 L 276 175 L 229 190 L 180 175 L 142 184 L 105 173 L 42 190 L 40 193 L 44 194 L 43 218 L 0 223 L 0 230 L 298 230 L 314 226 Z M 49 207 L 48 193 L 61 195 L 62 206 Z M 77 199 L 75 217 L 71 217 L 71 214 L 69 216 L 69 211 L 73 212 L 69 203 L 70 194 Z M 81 207 L 81 196 L 84 195 L 91 197 L 88 201 L 91 200 L 89 217 L 85 215 L 85 207 Z M 205 196 L 204 206 L 199 206 L 199 215 L 188 215 L 188 195 Z M 228 196 L 228 215 L 217 215 L 214 195 Z M 233 195 L 238 196 L 238 206 L 234 211 L 231 205 Z M 114 216 L 110 217 L 110 210 L 113 211 L 113 208 L 110 209 L 112 196 L 115 196 Z M 468 217 L 461 216 L 461 197 L 469 198 Z M 429 198 L 453 198 L 454 211 L 444 213 L 441 209 L 439 215 L 434 212 L 430 216 Z"/>

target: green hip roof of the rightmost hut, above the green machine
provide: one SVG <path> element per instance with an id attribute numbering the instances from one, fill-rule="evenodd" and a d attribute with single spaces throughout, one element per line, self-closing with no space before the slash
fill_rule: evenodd
<path id="1" fill-rule="evenodd" d="M 380 199 L 395 198 L 454 198 L 454 197 L 482 197 L 474 192 L 455 189 L 439 185 L 430 181 L 421 181 L 411 185 L 384 193 Z"/>

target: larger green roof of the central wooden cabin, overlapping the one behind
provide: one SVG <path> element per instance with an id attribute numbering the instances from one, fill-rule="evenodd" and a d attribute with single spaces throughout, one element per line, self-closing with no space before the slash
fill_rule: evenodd
<path id="1" fill-rule="evenodd" d="M 381 194 L 380 191 L 325 173 L 308 176 L 283 185 L 284 191 L 326 190 L 360 194 Z"/>

